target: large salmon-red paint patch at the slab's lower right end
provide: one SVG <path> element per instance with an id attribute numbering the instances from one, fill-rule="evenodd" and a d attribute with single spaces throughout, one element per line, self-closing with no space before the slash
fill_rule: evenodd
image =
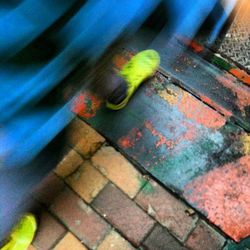
<path id="1" fill-rule="evenodd" d="M 250 156 L 198 177 L 184 197 L 234 240 L 250 236 Z"/>

